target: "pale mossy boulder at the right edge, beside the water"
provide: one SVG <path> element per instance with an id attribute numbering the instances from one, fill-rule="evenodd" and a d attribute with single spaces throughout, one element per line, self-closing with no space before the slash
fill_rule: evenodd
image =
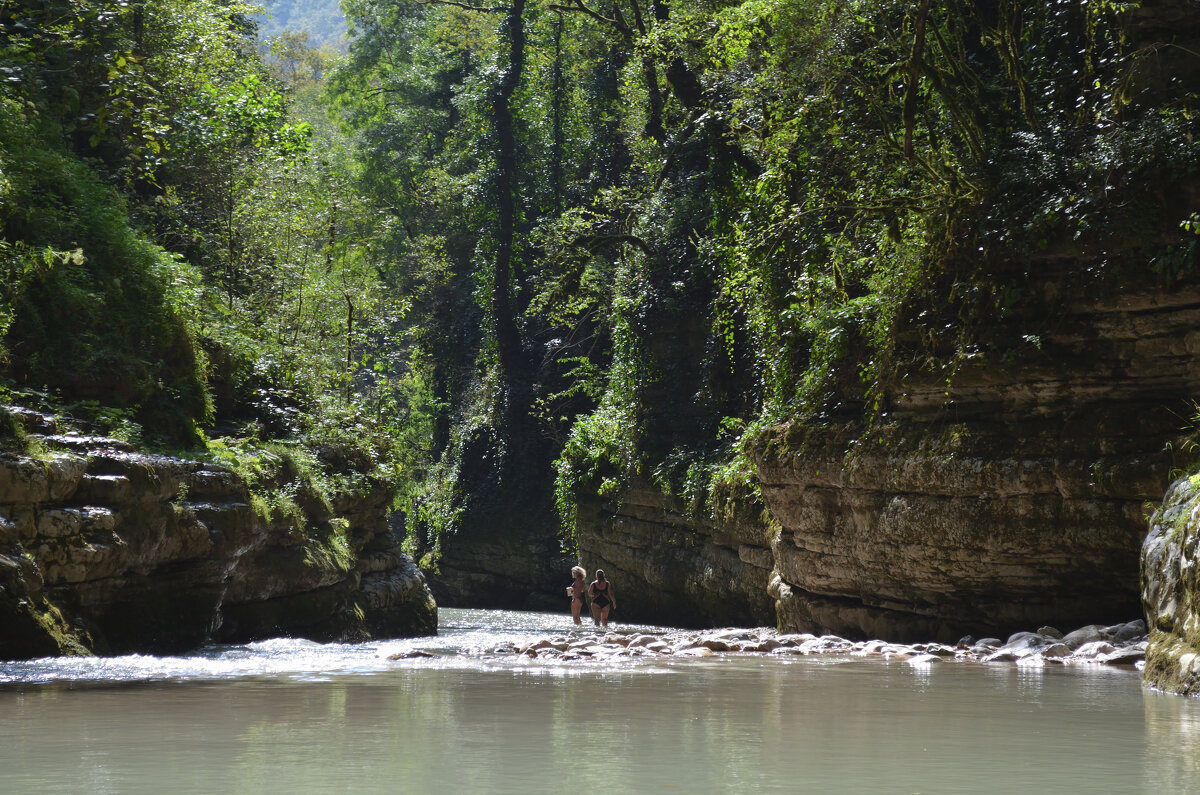
<path id="1" fill-rule="evenodd" d="M 1200 695 L 1200 485 L 1193 478 L 1177 480 L 1151 518 L 1141 578 L 1146 683 Z"/>

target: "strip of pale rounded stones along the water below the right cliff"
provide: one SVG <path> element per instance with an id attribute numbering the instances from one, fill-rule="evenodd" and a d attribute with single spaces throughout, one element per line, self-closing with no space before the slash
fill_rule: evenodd
<path id="1" fill-rule="evenodd" d="M 965 636 L 956 644 L 852 641 L 838 635 L 781 633 L 770 628 L 641 632 L 584 626 L 566 634 L 536 638 L 523 644 L 504 642 L 480 653 L 556 663 L 714 654 L 841 654 L 901 659 L 913 665 L 959 660 L 1022 667 L 1097 664 L 1141 668 L 1146 641 L 1146 623 L 1140 618 L 1106 627 L 1088 624 L 1066 635 L 1054 627 L 1042 627 L 1037 632 L 1015 633 L 1006 640 Z M 430 651 L 413 650 L 392 654 L 389 659 L 436 656 Z"/>

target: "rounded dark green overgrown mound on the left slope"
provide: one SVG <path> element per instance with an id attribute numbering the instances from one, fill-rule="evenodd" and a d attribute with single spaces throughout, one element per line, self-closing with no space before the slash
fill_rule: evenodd
<path id="1" fill-rule="evenodd" d="M 130 227 L 116 191 L 25 121 L 17 103 L 0 107 L 0 325 L 11 372 L 194 440 L 210 406 L 203 357 L 158 279 L 172 258 Z"/>

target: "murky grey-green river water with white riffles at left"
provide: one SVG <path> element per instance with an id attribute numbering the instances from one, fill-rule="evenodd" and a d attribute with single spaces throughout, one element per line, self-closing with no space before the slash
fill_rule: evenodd
<path id="1" fill-rule="evenodd" d="M 440 623 L 361 645 L 0 663 L 0 791 L 1200 791 L 1200 700 L 1132 669 L 546 663 L 492 652 L 565 633 L 565 615 Z M 388 660 L 413 650 L 434 656 Z"/>

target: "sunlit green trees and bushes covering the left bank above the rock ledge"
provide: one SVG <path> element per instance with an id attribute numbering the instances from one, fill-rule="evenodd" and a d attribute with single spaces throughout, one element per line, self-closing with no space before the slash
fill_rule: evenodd
<path id="1" fill-rule="evenodd" d="M 298 520 L 306 490 L 328 502 L 414 466 L 394 438 L 427 429 L 392 418 L 428 413 L 428 390 L 392 345 L 410 301 L 379 276 L 344 139 L 294 113 L 328 56 L 293 42 L 322 70 L 281 83 L 253 12 L 0 8 L 0 352 L 14 400 L 92 430 L 178 449 L 204 426 L 264 515 Z"/>

